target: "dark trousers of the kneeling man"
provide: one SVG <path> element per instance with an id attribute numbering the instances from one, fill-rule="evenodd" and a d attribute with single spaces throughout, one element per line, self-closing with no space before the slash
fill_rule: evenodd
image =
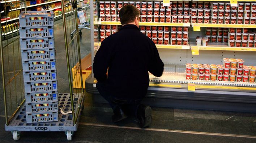
<path id="1" fill-rule="evenodd" d="M 131 98 L 120 98 L 120 97 L 114 97 L 111 96 L 110 93 L 108 93 L 103 86 L 102 82 L 98 82 L 96 84 L 96 87 L 101 94 L 101 96 L 107 100 L 109 105 L 111 106 L 113 112 L 115 113 L 116 107 L 121 107 L 125 114 L 137 116 L 137 108 L 138 105 L 140 105 L 143 97 L 137 98 L 137 99 L 131 99 Z"/>

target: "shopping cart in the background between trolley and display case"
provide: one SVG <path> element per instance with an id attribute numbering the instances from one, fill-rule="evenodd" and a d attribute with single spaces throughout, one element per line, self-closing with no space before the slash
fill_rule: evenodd
<path id="1" fill-rule="evenodd" d="M 84 2 L 78 3 L 77 6 L 77 22 L 78 22 L 78 33 L 82 36 L 82 28 L 90 29 L 90 5 L 84 4 Z M 73 31 L 71 33 L 71 38 L 73 38 Z"/>

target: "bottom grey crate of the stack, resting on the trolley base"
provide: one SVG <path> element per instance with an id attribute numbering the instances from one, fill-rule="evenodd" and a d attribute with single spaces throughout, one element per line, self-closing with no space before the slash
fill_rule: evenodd
<path id="1" fill-rule="evenodd" d="M 42 123 L 58 121 L 58 112 L 26 113 L 27 123 Z"/>

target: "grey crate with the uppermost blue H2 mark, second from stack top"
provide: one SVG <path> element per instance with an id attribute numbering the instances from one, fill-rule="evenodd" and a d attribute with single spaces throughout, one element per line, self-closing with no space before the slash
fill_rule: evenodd
<path id="1" fill-rule="evenodd" d="M 20 38 L 54 37 L 53 26 L 20 27 Z"/>

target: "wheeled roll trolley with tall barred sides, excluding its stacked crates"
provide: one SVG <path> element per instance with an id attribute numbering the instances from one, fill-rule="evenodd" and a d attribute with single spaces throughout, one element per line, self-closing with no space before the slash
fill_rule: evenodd
<path id="1" fill-rule="evenodd" d="M 81 111 L 84 108 L 84 89 L 75 89 L 72 85 L 81 84 L 81 87 L 83 87 L 82 73 L 79 72 L 82 70 L 80 64 L 81 55 L 79 33 L 78 31 L 73 33 L 72 38 L 67 36 L 73 32 L 74 29 L 78 29 L 77 8 L 75 6 L 72 8 L 73 14 L 65 14 L 65 9 L 67 9 L 68 6 L 71 6 L 73 2 L 76 4 L 76 0 L 68 3 L 61 0 L 69 93 L 59 93 L 59 121 L 57 122 L 26 123 L 21 51 L 20 46 L 14 47 L 15 42 L 17 42 L 16 44 L 18 45 L 20 44 L 18 33 L 15 33 L 16 35 L 12 33 L 12 38 L 7 38 L 5 41 L 0 38 L 1 72 L 3 78 L 2 84 L 5 107 L 5 130 L 12 132 L 14 140 L 18 140 L 20 138 L 21 131 L 65 132 L 67 139 L 72 140 L 74 131 L 76 131 L 78 128 Z M 2 35 L 1 31 L 0 35 Z M 14 53 L 18 53 L 18 55 L 15 55 Z M 10 59 L 11 57 L 13 58 Z M 75 71 L 74 77 L 72 77 L 71 74 L 71 69 L 73 66 L 78 67 Z M 81 80 L 79 81 L 77 78 L 75 78 L 77 74 L 80 74 Z"/>

